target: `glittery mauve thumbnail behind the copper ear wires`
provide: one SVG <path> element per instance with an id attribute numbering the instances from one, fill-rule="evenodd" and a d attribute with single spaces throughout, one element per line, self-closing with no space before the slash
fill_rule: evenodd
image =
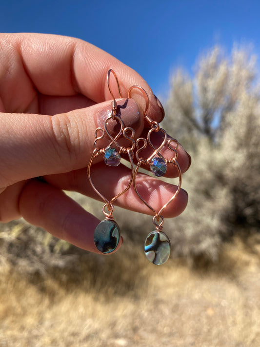
<path id="1" fill-rule="evenodd" d="M 104 127 L 105 121 L 111 116 L 111 111 L 111 105 L 99 111 L 97 114 L 98 126 L 101 128 Z M 138 104 L 133 99 L 121 99 L 117 101 L 117 116 L 123 121 L 125 127 L 129 126 L 134 130 L 139 129 L 143 122 L 143 116 L 140 114 Z M 107 123 L 107 129 L 113 136 L 120 130 L 120 124 L 110 121 Z"/>

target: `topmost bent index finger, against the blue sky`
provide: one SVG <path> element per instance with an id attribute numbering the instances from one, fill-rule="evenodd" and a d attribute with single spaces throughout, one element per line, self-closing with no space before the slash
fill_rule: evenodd
<path id="1" fill-rule="evenodd" d="M 112 68 L 123 97 L 127 97 L 130 86 L 140 85 L 149 96 L 149 116 L 155 121 L 163 118 L 160 102 L 143 78 L 90 43 L 71 37 L 28 33 L 0 34 L 0 44 L 2 111 L 42 114 L 41 108 L 48 105 L 46 100 L 42 104 L 39 95 L 81 94 L 96 103 L 110 100 L 106 75 Z M 118 97 L 115 79 L 111 79 L 111 89 Z M 47 113 L 53 114 L 51 109 Z"/>

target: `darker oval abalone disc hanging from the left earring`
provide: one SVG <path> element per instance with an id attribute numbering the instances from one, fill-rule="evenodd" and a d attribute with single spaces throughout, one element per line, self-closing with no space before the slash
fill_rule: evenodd
<path id="1" fill-rule="evenodd" d="M 94 243 L 102 253 L 113 252 L 120 240 L 120 228 L 114 220 L 104 219 L 94 231 Z"/>

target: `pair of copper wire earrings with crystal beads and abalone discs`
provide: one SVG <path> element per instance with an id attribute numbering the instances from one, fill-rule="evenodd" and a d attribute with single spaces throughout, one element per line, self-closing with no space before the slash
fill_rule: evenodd
<path id="1" fill-rule="evenodd" d="M 145 255 L 147 259 L 153 264 L 161 265 L 168 260 L 170 256 L 170 247 L 171 247 L 168 236 L 162 231 L 162 225 L 164 222 L 162 212 L 178 195 L 180 191 L 180 186 L 181 186 L 181 171 L 180 171 L 180 166 L 177 162 L 178 141 L 175 139 L 168 140 L 165 130 L 160 128 L 159 123 L 153 121 L 152 119 L 150 119 L 150 117 L 148 117 L 147 111 L 149 108 L 149 98 L 146 91 L 138 85 L 133 85 L 132 87 L 130 87 L 128 91 L 128 98 L 130 98 L 131 91 L 134 88 L 138 88 L 142 92 L 142 94 L 145 97 L 144 117 L 145 117 L 145 120 L 149 123 L 151 128 L 148 131 L 146 138 L 139 138 L 136 141 L 134 140 L 134 136 L 135 136 L 134 129 L 132 129 L 131 127 L 125 127 L 121 118 L 118 116 L 117 102 L 110 88 L 111 73 L 114 75 L 116 79 L 119 95 L 121 97 L 120 86 L 119 86 L 117 75 L 113 70 L 110 69 L 107 74 L 107 84 L 113 99 L 112 107 L 111 107 L 111 115 L 109 115 L 108 118 L 105 120 L 103 128 L 99 127 L 96 129 L 94 150 L 90 158 L 88 169 L 87 169 L 88 179 L 90 184 L 92 185 L 93 189 L 96 191 L 96 193 L 100 196 L 100 198 L 105 203 L 102 208 L 102 212 L 105 215 L 105 219 L 101 221 L 95 229 L 94 243 L 96 247 L 102 253 L 110 253 L 113 250 L 115 250 L 116 247 L 118 246 L 118 243 L 120 240 L 120 227 L 116 223 L 113 217 L 113 211 L 114 211 L 113 203 L 122 194 L 124 194 L 133 184 L 135 192 L 137 196 L 139 197 L 139 199 L 154 213 L 153 224 L 155 225 L 156 230 L 150 232 L 145 240 L 145 244 L 144 244 Z M 117 122 L 119 124 L 120 130 L 115 137 L 111 136 L 111 134 L 109 133 L 109 130 L 108 130 L 109 122 Z M 157 132 L 157 133 L 160 132 L 163 135 L 163 141 L 161 142 L 160 146 L 157 149 L 154 147 L 151 141 L 151 136 L 154 132 Z M 99 146 L 98 143 L 100 143 L 100 141 L 104 138 L 109 139 L 110 141 L 109 144 L 106 147 L 102 145 Z M 127 140 L 128 146 L 123 146 L 120 144 L 122 139 Z M 168 149 L 173 153 L 173 156 L 170 159 L 166 159 L 160 154 L 160 151 L 164 148 L 166 144 L 168 146 Z M 152 150 L 152 154 L 148 158 L 143 158 L 140 154 L 141 151 L 144 150 L 145 148 L 149 148 L 150 150 Z M 135 149 L 136 151 L 134 152 Z M 131 177 L 125 189 L 122 190 L 119 194 L 117 194 L 112 199 L 108 200 L 95 187 L 91 179 L 91 165 L 95 158 L 102 155 L 106 165 L 118 166 L 120 164 L 120 159 L 122 154 L 128 156 L 128 159 L 131 165 Z M 136 158 L 137 160 L 136 168 L 134 167 L 134 162 L 133 162 L 134 158 Z M 137 178 L 138 178 L 137 174 L 141 166 L 147 166 L 147 165 L 150 166 L 150 170 L 153 173 L 153 175 L 157 177 L 163 176 L 166 173 L 167 166 L 169 165 L 175 166 L 178 170 L 179 184 L 178 184 L 177 190 L 174 193 L 174 195 L 171 197 L 171 199 L 160 208 L 160 210 L 156 210 L 153 206 L 148 204 L 148 202 L 143 199 L 143 197 L 140 195 L 140 192 L 139 192 L 138 183 L 137 183 Z"/>

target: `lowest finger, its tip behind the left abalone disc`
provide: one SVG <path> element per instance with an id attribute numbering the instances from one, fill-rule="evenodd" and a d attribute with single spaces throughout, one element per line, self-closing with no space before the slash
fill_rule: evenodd
<path id="1" fill-rule="evenodd" d="M 93 242 L 100 221 L 60 189 L 30 180 L 20 194 L 19 210 L 25 220 L 53 236 L 90 252 L 101 253 Z M 121 244 L 122 238 L 117 250 Z"/>

